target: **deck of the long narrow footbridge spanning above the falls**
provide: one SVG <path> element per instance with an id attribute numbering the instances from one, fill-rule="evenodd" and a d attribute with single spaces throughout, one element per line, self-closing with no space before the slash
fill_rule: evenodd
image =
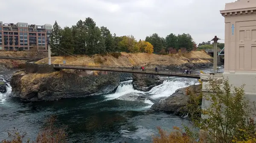
<path id="1" fill-rule="evenodd" d="M 55 69 L 72 69 L 72 70 L 97 70 L 97 71 L 109 71 L 109 72 L 122 72 L 122 73 L 140 73 L 140 74 L 151 74 L 151 75 L 159 75 L 159 76 L 177 76 L 177 77 L 187 77 L 200 79 L 200 74 L 183 74 L 183 73 L 172 73 L 172 72 L 155 72 L 155 71 L 141 71 L 141 70 L 128 70 L 116 67 L 83 67 L 76 65 L 62 65 L 62 64 L 54 64 Z"/>

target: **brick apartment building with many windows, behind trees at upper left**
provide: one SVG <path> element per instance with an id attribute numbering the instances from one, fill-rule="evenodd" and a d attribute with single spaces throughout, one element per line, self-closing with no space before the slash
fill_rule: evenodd
<path id="1" fill-rule="evenodd" d="M 0 21 L 0 50 L 47 50 L 47 40 L 52 32 L 52 25 L 29 25 L 17 22 Z"/>

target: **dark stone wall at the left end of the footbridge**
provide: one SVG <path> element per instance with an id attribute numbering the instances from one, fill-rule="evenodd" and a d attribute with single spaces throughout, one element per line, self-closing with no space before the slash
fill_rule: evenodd
<path id="1" fill-rule="evenodd" d="M 26 61 L 26 73 L 50 73 L 56 71 L 53 68 L 53 64 L 35 64 L 34 62 L 38 60 L 39 59 L 32 59 Z"/>

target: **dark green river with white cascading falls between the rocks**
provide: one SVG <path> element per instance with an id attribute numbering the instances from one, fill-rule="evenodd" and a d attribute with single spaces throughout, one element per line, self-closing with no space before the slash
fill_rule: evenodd
<path id="1" fill-rule="evenodd" d="M 12 72 L 0 73 L 0 77 Z M 181 87 L 198 84 L 197 79 L 163 77 L 164 83 L 149 92 L 134 90 L 132 81 L 121 82 L 116 93 L 86 98 L 23 103 L 0 93 L 0 140 L 14 127 L 34 139 L 46 117 L 57 115 L 57 123 L 67 125 L 70 143 L 150 143 L 157 135 L 157 126 L 171 130 L 173 126 L 190 126 L 185 117 L 151 110 L 155 100 L 165 98 Z M 144 102 L 117 100 L 126 93 L 147 95 Z"/>

